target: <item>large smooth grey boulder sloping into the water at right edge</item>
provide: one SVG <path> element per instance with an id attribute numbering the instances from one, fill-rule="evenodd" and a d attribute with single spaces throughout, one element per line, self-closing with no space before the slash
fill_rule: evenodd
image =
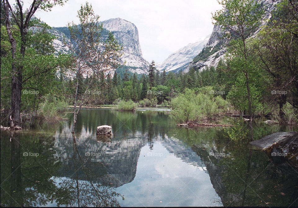
<path id="1" fill-rule="evenodd" d="M 298 165 L 298 132 L 276 132 L 251 144 L 262 148 L 274 162 L 290 160 Z"/>

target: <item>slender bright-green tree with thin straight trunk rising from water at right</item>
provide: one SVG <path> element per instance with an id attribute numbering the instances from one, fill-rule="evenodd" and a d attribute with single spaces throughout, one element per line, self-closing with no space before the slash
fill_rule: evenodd
<path id="1" fill-rule="evenodd" d="M 248 114 L 250 117 L 251 140 L 252 132 L 252 107 L 250 91 L 250 75 L 255 72 L 254 64 L 249 57 L 247 41 L 260 25 L 260 20 L 264 11 L 260 8 L 258 2 L 254 0 L 223 0 L 220 2 L 225 7 L 223 10 L 216 11 L 212 17 L 225 32 L 226 37 L 235 37 L 230 41 L 228 48 L 229 58 L 234 63 L 233 70 L 240 76 L 245 76 L 245 85 L 247 90 Z"/>

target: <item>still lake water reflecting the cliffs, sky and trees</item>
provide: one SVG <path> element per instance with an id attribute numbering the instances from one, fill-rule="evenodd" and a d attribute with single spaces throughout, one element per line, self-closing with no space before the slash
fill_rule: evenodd
<path id="1" fill-rule="evenodd" d="M 230 142 L 223 128 L 178 127 L 167 112 L 87 109 L 72 135 L 65 117 L 1 131 L 1 206 L 298 206 L 296 170 Z M 100 125 L 112 126 L 111 138 L 96 136 Z M 254 138 L 290 130 L 258 122 Z"/>

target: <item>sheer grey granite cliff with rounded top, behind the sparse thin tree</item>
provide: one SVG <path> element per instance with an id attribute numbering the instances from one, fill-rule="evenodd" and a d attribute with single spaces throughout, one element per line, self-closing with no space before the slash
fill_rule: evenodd
<path id="1" fill-rule="evenodd" d="M 121 57 L 121 62 L 123 65 L 126 62 L 124 68 L 132 73 L 148 74 L 149 63 L 142 56 L 138 28 L 133 23 L 121 18 L 108 19 L 101 23 L 103 28 L 105 28 L 102 31 L 102 37 L 107 37 L 108 31 L 111 31 L 116 40 L 122 44 L 124 54 Z M 52 28 L 50 32 L 56 36 L 56 39 L 53 41 L 56 53 L 67 53 L 69 49 L 67 46 L 64 46 L 62 40 L 63 36 L 65 36 L 66 41 L 70 41 L 68 28 Z"/>

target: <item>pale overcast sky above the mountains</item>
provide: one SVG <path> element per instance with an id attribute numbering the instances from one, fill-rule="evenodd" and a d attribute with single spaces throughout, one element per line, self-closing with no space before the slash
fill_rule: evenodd
<path id="1" fill-rule="evenodd" d="M 31 0 L 24 0 L 28 7 Z M 52 27 L 78 23 L 77 11 L 84 0 L 69 0 L 36 17 Z M 176 50 L 212 32 L 211 12 L 220 9 L 216 0 L 88 0 L 100 21 L 120 17 L 135 24 L 143 57 L 156 63 Z M 26 7 L 26 8 L 27 8 Z"/>

